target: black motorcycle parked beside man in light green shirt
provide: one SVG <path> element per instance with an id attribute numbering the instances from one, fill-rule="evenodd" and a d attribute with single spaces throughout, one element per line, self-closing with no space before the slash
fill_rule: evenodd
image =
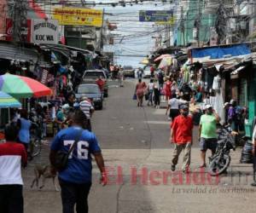
<path id="1" fill-rule="evenodd" d="M 234 132 L 230 126 L 218 129 L 218 146 L 216 152 L 209 158 L 208 173 L 211 176 L 223 174 L 230 166 L 230 150 L 236 150 Z"/>

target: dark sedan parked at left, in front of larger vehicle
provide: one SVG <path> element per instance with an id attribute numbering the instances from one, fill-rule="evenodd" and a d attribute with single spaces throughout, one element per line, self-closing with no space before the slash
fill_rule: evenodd
<path id="1" fill-rule="evenodd" d="M 99 86 L 96 83 L 82 83 L 79 85 L 76 98 L 87 97 L 93 102 L 96 109 L 102 110 L 103 96 Z"/>

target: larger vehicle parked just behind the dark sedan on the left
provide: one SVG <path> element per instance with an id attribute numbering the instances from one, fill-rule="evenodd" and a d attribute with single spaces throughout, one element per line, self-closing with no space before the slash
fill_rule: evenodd
<path id="1" fill-rule="evenodd" d="M 103 70 L 86 70 L 83 76 L 83 83 L 96 83 L 96 79 L 102 77 L 104 80 L 104 97 L 108 97 L 108 78 Z"/>

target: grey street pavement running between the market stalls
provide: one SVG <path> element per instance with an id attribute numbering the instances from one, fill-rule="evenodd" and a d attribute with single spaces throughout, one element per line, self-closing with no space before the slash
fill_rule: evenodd
<path id="1" fill-rule="evenodd" d="M 136 79 L 126 79 L 122 88 L 118 82 L 110 82 L 103 110 L 93 114 L 92 130 L 108 167 L 108 185 L 99 184 L 100 173 L 93 162 L 90 212 L 254 212 L 252 165 L 239 164 L 241 148 L 231 152 L 227 174 L 208 176 L 207 171 L 199 169 L 195 127 L 191 172 L 181 171 L 183 155 L 177 170 L 172 172 L 173 147 L 169 142 L 166 103 L 161 101 L 160 109 L 146 107 L 145 103 L 145 107 L 137 107 L 132 100 L 136 83 Z M 61 212 L 61 194 L 55 192 L 50 179 L 41 190 L 30 187 L 34 165 L 49 164 L 50 141 L 44 141 L 42 153 L 22 171 L 26 213 Z"/>

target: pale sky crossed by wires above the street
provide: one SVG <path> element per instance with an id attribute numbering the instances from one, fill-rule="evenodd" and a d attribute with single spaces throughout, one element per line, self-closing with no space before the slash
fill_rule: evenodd
<path id="1" fill-rule="evenodd" d="M 118 1 L 96 1 L 96 3 L 110 3 Z M 157 3 L 157 5 L 155 5 Z M 97 6 L 97 8 L 101 8 Z M 154 1 L 154 3 L 134 4 L 133 6 L 106 6 L 105 13 L 113 14 L 105 16 L 112 23 L 116 23 L 118 29 L 114 34 L 118 37 L 114 40 L 114 45 L 104 47 L 105 51 L 113 51 L 115 55 L 137 55 L 134 57 L 116 56 L 115 60 L 119 65 L 131 65 L 134 67 L 142 66 L 139 64 L 141 60 L 150 52 L 154 50 L 154 23 L 153 22 L 139 22 L 139 10 L 168 10 L 171 9 L 170 4 L 163 4 L 161 1 Z M 128 36 L 128 37 L 127 37 Z M 138 55 L 143 55 L 138 57 Z"/>

